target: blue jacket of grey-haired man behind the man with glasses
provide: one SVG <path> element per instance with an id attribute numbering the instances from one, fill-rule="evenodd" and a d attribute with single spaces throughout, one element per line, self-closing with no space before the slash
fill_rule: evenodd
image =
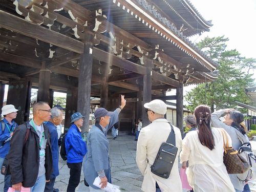
<path id="1" fill-rule="evenodd" d="M 46 122 L 45 126 L 48 128 L 50 138 L 51 138 L 53 173 L 50 176 L 50 179 L 52 179 L 59 175 L 58 134 L 57 134 L 56 126 L 52 122 L 50 122 L 50 121 Z"/>

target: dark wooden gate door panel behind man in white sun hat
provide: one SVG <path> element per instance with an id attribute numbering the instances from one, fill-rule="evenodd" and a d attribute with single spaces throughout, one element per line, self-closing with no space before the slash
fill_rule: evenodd
<path id="1" fill-rule="evenodd" d="M 10 81 L 7 104 L 13 104 L 18 109 L 15 122 L 22 124 L 29 120 L 29 108 L 32 82 L 28 78 Z"/>

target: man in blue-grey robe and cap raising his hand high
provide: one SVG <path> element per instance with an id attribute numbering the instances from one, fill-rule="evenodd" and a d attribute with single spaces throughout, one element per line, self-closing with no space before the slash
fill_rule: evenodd
<path id="1" fill-rule="evenodd" d="M 105 188 L 108 182 L 112 182 L 109 140 L 106 138 L 106 133 L 118 122 L 118 114 L 125 104 L 126 100 L 121 95 L 121 105 L 114 112 L 109 112 L 104 108 L 99 108 L 94 112 L 95 124 L 87 136 L 88 153 L 83 162 L 83 174 L 89 184 L 90 192 L 102 190 L 93 185 L 95 178 L 98 176 L 101 179 L 101 188 Z"/>

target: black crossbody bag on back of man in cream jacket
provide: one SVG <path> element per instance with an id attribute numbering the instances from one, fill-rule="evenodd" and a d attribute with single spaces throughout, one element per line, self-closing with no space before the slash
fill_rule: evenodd
<path id="1" fill-rule="evenodd" d="M 157 157 L 153 165 L 151 165 L 151 172 L 165 179 L 170 176 L 178 152 L 178 148 L 175 146 L 176 141 L 173 125 L 170 124 L 170 127 L 172 130 L 170 131 L 166 142 L 163 142 L 160 146 Z"/>

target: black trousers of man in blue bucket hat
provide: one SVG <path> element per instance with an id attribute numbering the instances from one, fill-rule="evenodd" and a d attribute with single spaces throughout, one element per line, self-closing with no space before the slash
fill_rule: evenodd
<path id="1" fill-rule="evenodd" d="M 70 168 L 70 177 L 67 192 L 75 192 L 76 187 L 80 183 L 82 162 L 80 163 L 67 163 Z"/>

